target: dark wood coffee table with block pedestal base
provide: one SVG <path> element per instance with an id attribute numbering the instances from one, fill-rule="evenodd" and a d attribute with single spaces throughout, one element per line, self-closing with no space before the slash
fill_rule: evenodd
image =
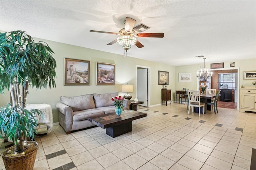
<path id="1" fill-rule="evenodd" d="M 106 128 L 106 134 L 112 138 L 132 131 L 132 121 L 146 117 L 146 113 L 137 111 L 125 111 L 120 116 L 116 113 L 89 117 L 88 120 L 94 125 Z"/>

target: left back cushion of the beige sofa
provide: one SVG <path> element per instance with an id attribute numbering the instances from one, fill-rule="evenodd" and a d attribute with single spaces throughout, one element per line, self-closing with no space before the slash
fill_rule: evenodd
<path id="1" fill-rule="evenodd" d="M 60 101 L 61 103 L 71 107 L 73 111 L 82 111 L 85 109 L 95 108 L 92 94 L 75 97 L 61 96 Z"/>

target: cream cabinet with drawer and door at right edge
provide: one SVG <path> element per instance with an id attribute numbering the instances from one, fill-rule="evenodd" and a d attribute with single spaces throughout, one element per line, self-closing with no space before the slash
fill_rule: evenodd
<path id="1" fill-rule="evenodd" d="M 239 111 L 240 112 L 252 111 L 256 113 L 256 89 L 254 86 L 241 87 Z"/>

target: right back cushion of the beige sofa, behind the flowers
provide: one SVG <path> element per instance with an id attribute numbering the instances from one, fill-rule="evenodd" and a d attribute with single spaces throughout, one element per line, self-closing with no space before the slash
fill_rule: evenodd
<path id="1" fill-rule="evenodd" d="M 111 100 L 112 97 L 116 97 L 118 92 L 116 93 L 106 93 L 106 94 L 93 94 L 95 107 L 105 107 L 105 106 L 113 106 L 114 102 Z"/>

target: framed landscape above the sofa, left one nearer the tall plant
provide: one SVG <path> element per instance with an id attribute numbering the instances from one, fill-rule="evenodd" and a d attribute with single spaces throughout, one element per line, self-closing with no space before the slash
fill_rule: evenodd
<path id="1" fill-rule="evenodd" d="M 90 61 L 64 58 L 64 85 L 90 85 Z"/>

